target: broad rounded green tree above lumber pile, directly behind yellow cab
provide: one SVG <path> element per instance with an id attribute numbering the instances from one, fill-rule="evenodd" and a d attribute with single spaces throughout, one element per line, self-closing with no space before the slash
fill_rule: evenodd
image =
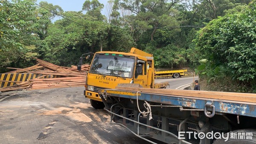
<path id="1" fill-rule="evenodd" d="M 44 60 L 61 65 L 77 64 L 86 52 L 126 51 L 133 44 L 128 31 L 104 21 L 91 20 L 82 12 L 64 12 L 67 19 L 49 25 L 43 40 Z"/>

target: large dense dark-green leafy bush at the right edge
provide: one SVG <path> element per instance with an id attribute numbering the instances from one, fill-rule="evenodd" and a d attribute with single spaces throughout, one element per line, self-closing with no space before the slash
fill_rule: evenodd
<path id="1" fill-rule="evenodd" d="M 198 69 L 207 78 L 232 77 L 247 86 L 256 85 L 256 3 L 237 14 L 212 20 L 195 40 L 208 61 Z"/>

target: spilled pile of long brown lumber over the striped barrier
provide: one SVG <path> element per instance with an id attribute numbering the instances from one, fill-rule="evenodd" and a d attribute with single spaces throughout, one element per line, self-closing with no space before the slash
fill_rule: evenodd
<path id="1" fill-rule="evenodd" d="M 0 91 L 10 91 L 17 89 L 49 89 L 49 88 L 63 88 L 63 87 L 75 87 L 84 86 L 86 81 L 87 72 L 90 68 L 89 64 L 81 66 L 81 71 L 77 70 L 76 66 L 64 67 L 57 66 L 44 60 L 36 59 L 37 64 L 24 69 L 15 69 L 5 74 L 13 74 L 18 77 L 18 74 L 37 75 L 36 78 L 24 79 L 23 81 L 17 81 L 17 78 L 9 78 L 7 81 L 2 79 L 3 82 L 13 84 L 12 86 L 5 86 L 0 88 Z M 12 77 L 15 77 L 13 76 Z M 35 76 L 34 76 L 35 77 Z M 6 77 L 5 77 L 6 78 Z M 16 81 L 14 81 L 16 79 Z M 1 82 L 1 81 L 0 81 Z M 8 84 L 8 85 L 10 85 Z M 3 85 L 3 84 L 2 84 Z"/>

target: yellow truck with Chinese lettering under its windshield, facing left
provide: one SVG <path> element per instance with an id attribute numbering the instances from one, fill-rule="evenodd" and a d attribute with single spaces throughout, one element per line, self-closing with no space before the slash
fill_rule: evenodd
<path id="1" fill-rule="evenodd" d="M 79 60 L 78 70 L 81 70 L 82 59 L 83 55 Z M 152 54 L 136 48 L 131 48 L 128 53 L 96 52 L 87 73 L 85 97 L 90 98 L 90 103 L 95 109 L 102 109 L 105 105 L 98 91 L 114 89 L 118 84 L 134 84 L 134 86 L 153 89 L 166 88 L 169 85 L 168 82 L 154 83 Z"/>

